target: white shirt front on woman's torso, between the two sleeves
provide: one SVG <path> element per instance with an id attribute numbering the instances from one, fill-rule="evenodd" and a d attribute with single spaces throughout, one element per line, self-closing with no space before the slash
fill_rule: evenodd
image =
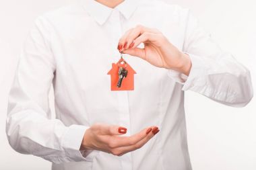
<path id="1" fill-rule="evenodd" d="M 139 5 L 128 20 L 114 9 L 102 26 L 82 5 L 45 15 L 54 30 L 51 48 L 57 68 L 53 84 L 58 119 L 66 126 L 117 124 L 125 126 L 129 136 L 147 126 L 160 128 L 137 151 L 121 157 L 98 152 L 92 162 L 53 164 L 53 169 L 191 169 L 182 85 L 168 77 L 168 70 L 127 54 L 125 60 L 137 73 L 134 91 L 110 91 L 107 75 L 120 58 L 119 38 L 137 24 L 157 28 L 183 50 L 186 13 L 176 5 L 153 0 Z"/>

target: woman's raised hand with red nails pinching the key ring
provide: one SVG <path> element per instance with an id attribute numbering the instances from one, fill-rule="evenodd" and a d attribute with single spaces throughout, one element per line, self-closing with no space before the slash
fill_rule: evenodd
<path id="1" fill-rule="evenodd" d="M 141 42 L 144 48 L 137 48 Z M 173 69 L 189 75 L 191 60 L 189 55 L 179 51 L 168 39 L 155 28 L 136 26 L 127 30 L 120 38 L 119 52 L 138 56 L 156 67 Z"/>

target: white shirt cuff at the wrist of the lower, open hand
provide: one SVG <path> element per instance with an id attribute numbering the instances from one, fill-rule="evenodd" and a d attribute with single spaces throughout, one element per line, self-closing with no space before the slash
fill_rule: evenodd
<path id="1" fill-rule="evenodd" d="M 73 124 L 68 127 L 62 140 L 61 146 L 63 147 L 65 154 L 71 161 L 92 161 L 95 155 L 98 153 L 96 150 L 84 150 L 79 151 L 84 133 L 90 128 L 88 126 Z"/>

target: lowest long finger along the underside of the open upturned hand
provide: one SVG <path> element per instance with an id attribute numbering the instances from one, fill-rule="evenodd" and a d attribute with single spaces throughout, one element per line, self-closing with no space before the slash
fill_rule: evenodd
<path id="1" fill-rule="evenodd" d="M 157 127 L 155 127 L 155 128 L 153 128 L 152 132 L 150 132 L 145 138 L 143 138 L 139 142 L 137 142 L 131 146 L 121 146 L 119 148 L 115 148 L 115 149 L 113 149 L 113 151 L 111 151 L 111 153 L 113 153 L 113 155 L 121 156 L 121 155 L 124 155 L 125 153 L 135 151 L 135 150 L 141 148 L 144 144 L 146 144 L 159 131 L 160 130 Z"/>

